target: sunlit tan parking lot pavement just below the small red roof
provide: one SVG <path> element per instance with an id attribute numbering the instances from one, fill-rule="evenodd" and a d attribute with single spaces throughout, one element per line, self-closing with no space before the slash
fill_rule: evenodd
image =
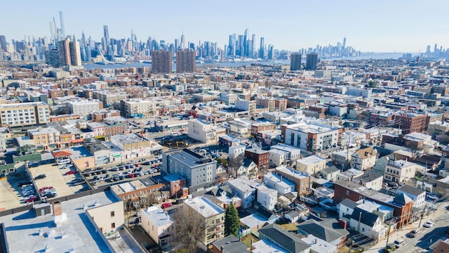
<path id="1" fill-rule="evenodd" d="M 63 165 L 43 164 L 39 167 L 29 168 L 30 176 L 33 178 L 41 174 L 46 175 L 45 178 L 36 179 L 34 181 L 36 183 L 36 188 L 40 189 L 46 186 L 53 186 L 55 192 L 58 193 L 58 197 L 72 195 L 83 188 L 83 185 L 72 186 L 71 181 L 80 177 L 78 173 L 66 175 L 66 173 L 72 169 L 61 169 L 61 167 L 63 167 Z"/>

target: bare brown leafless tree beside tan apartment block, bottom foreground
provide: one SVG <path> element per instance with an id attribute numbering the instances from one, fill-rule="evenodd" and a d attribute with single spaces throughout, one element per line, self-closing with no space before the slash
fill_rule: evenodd
<path id="1" fill-rule="evenodd" d="M 206 223 L 203 216 L 196 212 L 185 212 L 183 207 L 180 207 L 171 217 L 176 224 L 175 242 L 189 253 L 196 252 L 197 242 L 202 242 L 206 235 Z"/>

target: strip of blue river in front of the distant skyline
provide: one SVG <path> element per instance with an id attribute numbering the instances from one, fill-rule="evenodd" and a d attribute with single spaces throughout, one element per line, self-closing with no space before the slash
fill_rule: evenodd
<path id="1" fill-rule="evenodd" d="M 401 57 L 403 53 L 363 53 L 362 56 L 353 56 L 353 57 L 339 57 L 339 58 L 326 58 L 324 60 L 365 60 L 365 59 L 397 59 Z M 305 60 L 305 59 L 304 59 Z M 259 64 L 281 64 L 281 65 L 289 65 L 290 60 L 253 60 L 253 61 L 245 61 L 245 62 L 222 62 L 222 63 L 196 63 L 196 67 L 241 67 L 244 65 L 251 65 L 252 63 Z M 96 63 L 88 63 L 84 65 L 86 70 L 93 70 L 95 68 L 100 68 L 102 70 L 105 69 L 116 69 L 123 67 L 151 67 L 151 63 L 125 63 L 125 64 L 108 64 L 101 65 Z M 173 63 L 173 70 L 176 70 L 176 64 Z"/>

